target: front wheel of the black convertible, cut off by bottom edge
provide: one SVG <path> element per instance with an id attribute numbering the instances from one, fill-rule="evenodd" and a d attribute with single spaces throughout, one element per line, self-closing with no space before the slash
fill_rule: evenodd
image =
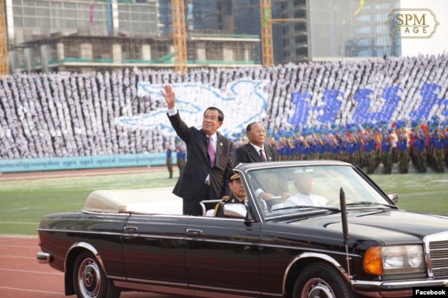
<path id="1" fill-rule="evenodd" d="M 309 264 L 294 284 L 294 298 L 354 298 L 347 281 L 336 268 L 325 263 Z"/>

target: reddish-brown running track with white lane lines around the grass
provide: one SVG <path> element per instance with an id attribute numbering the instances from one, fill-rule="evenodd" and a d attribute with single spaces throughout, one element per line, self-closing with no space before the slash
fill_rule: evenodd
<path id="1" fill-rule="evenodd" d="M 166 167 L 92 169 L 33 173 L 3 173 L 0 181 L 62 178 L 85 175 L 113 175 L 167 171 Z M 1 233 L 1 231 L 0 231 Z M 0 297 L 1 298 L 65 298 L 64 275 L 48 264 L 39 264 L 36 236 L 0 235 Z M 75 296 L 70 296 L 75 297 Z M 122 292 L 121 298 L 181 298 L 146 292 Z"/>

